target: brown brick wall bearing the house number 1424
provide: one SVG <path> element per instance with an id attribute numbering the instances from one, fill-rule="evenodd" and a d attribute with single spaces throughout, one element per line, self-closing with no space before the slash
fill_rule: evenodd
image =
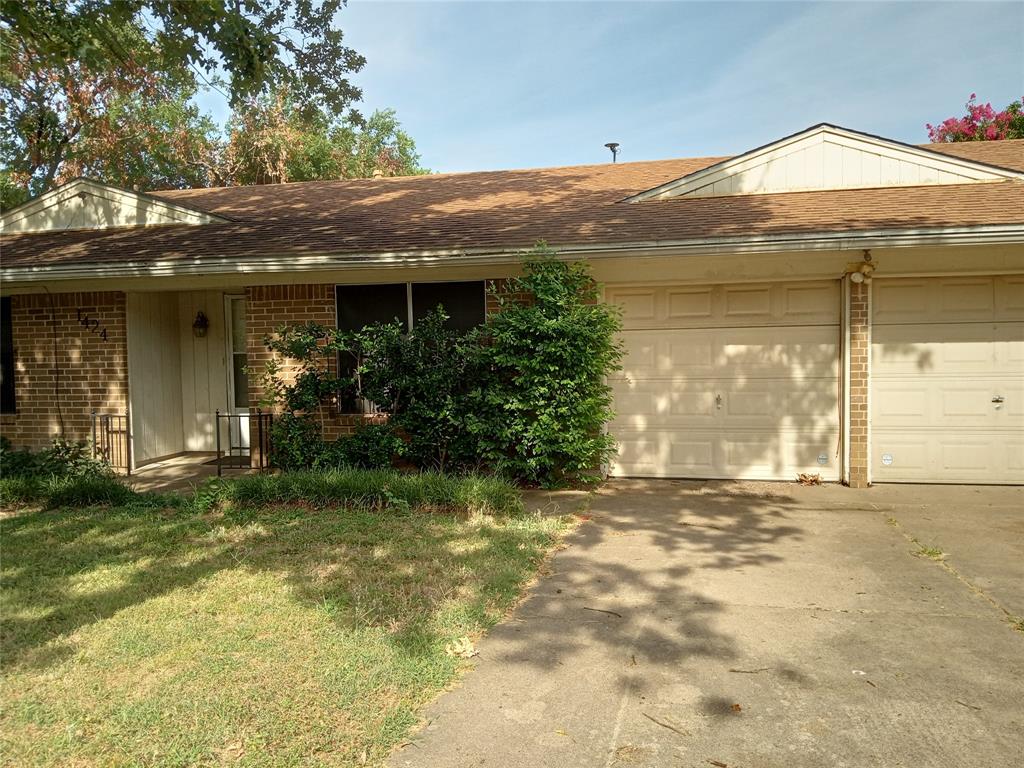
<path id="1" fill-rule="evenodd" d="M 80 322 L 80 311 L 88 327 Z M 16 446 L 32 449 L 45 447 L 61 434 L 85 440 L 92 410 L 124 413 L 125 329 L 123 293 L 12 296 L 16 413 L 0 417 L 3 435 Z"/>

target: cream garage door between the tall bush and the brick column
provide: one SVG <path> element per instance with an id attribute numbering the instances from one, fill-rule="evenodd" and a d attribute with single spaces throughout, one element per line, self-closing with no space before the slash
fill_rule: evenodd
<path id="1" fill-rule="evenodd" d="M 839 479 L 839 282 L 609 286 L 612 473 Z"/>

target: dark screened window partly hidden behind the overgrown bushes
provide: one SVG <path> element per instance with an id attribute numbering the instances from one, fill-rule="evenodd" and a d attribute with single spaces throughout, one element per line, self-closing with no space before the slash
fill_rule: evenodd
<path id="1" fill-rule="evenodd" d="M 378 286 L 338 286 L 335 293 L 338 306 L 338 329 L 358 331 L 375 323 L 400 322 L 409 329 L 410 319 L 426 316 L 437 306 L 444 307 L 449 328 L 469 331 L 483 323 L 486 298 L 483 281 L 460 283 L 388 283 Z M 412 299 L 412 305 L 410 305 Z M 355 370 L 355 358 L 341 354 L 338 375 L 349 377 Z M 362 413 L 366 403 L 354 395 L 338 399 L 342 413 Z"/>

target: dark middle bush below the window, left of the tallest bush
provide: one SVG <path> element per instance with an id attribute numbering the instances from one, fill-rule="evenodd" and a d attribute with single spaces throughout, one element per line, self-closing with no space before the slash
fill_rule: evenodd
<path id="1" fill-rule="evenodd" d="M 359 359 L 360 395 L 383 408 L 409 437 L 406 456 L 439 471 L 479 466 L 466 429 L 479 380 L 478 334 L 445 327 L 438 307 L 409 333 L 400 324 L 371 326 L 345 343 Z"/>

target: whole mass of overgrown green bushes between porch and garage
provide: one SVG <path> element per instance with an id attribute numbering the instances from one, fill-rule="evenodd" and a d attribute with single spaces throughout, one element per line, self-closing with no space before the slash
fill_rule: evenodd
<path id="1" fill-rule="evenodd" d="M 357 333 L 280 329 L 265 343 L 294 361 L 295 376 L 284 381 L 271 361 L 263 377 L 268 402 L 284 411 L 271 434 L 274 463 L 378 466 L 384 447 L 364 458 L 351 443 L 324 443 L 325 403 L 344 390 L 388 414 L 421 469 L 488 469 L 546 486 L 599 478 L 614 447 L 606 379 L 622 357 L 618 313 L 600 302 L 585 264 L 560 261 L 543 244 L 523 272 L 495 292 L 500 311 L 469 334 L 450 330 L 440 308 L 409 332 L 398 323 Z M 339 352 L 356 360 L 351 378 L 329 373 Z"/>

